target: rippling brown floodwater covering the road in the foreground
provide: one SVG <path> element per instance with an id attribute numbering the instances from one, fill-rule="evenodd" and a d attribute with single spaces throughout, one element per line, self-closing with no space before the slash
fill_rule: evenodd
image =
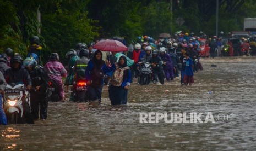
<path id="1" fill-rule="evenodd" d="M 127 106 L 49 103 L 35 125 L 0 125 L 1 150 L 255 150 L 256 58 L 201 59 L 192 88 L 179 79 L 132 84 Z M 211 67 L 211 65 L 217 67 Z M 211 91 L 211 94 L 208 93 Z M 207 123 L 140 123 L 140 112 L 211 113 Z M 146 119 L 146 121 L 149 121 Z"/>

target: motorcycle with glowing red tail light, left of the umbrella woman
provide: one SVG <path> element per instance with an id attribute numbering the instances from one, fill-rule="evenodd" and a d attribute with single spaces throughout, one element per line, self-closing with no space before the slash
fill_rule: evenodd
<path id="1" fill-rule="evenodd" d="M 87 82 L 85 79 L 76 79 L 73 82 L 71 93 L 74 96 L 74 102 L 86 102 Z"/>

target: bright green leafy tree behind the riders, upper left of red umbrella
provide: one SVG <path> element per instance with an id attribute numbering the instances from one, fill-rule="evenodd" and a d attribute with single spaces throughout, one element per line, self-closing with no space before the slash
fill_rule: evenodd
<path id="1" fill-rule="evenodd" d="M 91 26 L 95 21 L 88 19 L 87 13 L 72 14 L 67 10 L 58 10 L 55 14 L 43 15 L 42 22 L 45 24 L 41 34 L 49 53 L 55 51 L 64 56 L 67 51 L 74 49 L 76 43 L 90 43 L 97 36 L 97 28 Z"/>

